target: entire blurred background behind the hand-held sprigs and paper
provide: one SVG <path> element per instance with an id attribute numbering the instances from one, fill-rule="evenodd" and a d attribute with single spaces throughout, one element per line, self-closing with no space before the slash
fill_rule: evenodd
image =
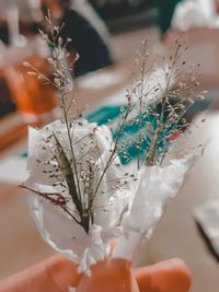
<path id="1" fill-rule="evenodd" d="M 50 50 L 38 33 L 47 30 L 44 17 L 48 9 L 56 25 L 65 23 L 64 39 L 72 39 L 68 51 L 80 55 L 69 78 L 78 104 L 88 104 L 90 113 L 123 103 L 132 72 L 138 75 L 136 50 L 142 48 L 143 39 L 148 39 L 151 62 L 155 55 L 174 50 L 180 38 L 188 46 L 185 60 L 200 63 L 200 90 L 207 94 L 189 113 L 195 130 L 183 147 L 207 147 L 152 238 L 136 255 L 135 265 L 180 257 L 192 270 L 192 292 L 218 292 L 217 0 L 0 0 L 0 280 L 54 253 L 39 238 L 18 186 L 26 176 L 27 126 L 42 126 L 59 116 L 56 91 L 27 74 L 23 66 L 28 61 L 51 77 Z M 200 209 L 204 221 L 196 215 Z M 212 227 L 217 236 L 210 236 Z"/>

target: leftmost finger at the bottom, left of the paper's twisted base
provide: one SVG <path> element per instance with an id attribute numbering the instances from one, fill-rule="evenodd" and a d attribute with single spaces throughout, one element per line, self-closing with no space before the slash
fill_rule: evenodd
<path id="1" fill-rule="evenodd" d="M 2 281 L 0 292 L 66 292 L 78 281 L 76 264 L 56 255 Z"/>

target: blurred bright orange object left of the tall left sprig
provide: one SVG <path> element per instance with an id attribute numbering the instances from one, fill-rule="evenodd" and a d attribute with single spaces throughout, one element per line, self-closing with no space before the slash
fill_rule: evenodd
<path id="1" fill-rule="evenodd" d="M 50 71 L 44 59 L 34 57 L 28 61 L 49 78 Z M 33 70 L 25 68 L 23 65 L 18 67 L 8 66 L 3 70 L 18 109 L 27 120 L 37 120 L 41 119 L 42 115 L 47 115 L 58 107 L 56 92 L 53 85 L 45 85 L 45 80 L 38 79 L 37 75 L 27 74 L 27 71 Z"/>

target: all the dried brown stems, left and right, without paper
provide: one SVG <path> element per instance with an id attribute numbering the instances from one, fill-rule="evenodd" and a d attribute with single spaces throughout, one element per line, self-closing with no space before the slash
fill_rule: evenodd
<path id="1" fill-rule="evenodd" d="M 149 54 L 147 51 L 147 42 L 143 42 L 142 52 L 138 56 L 140 78 L 127 90 L 126 105 L 120 109 L 119 119 L 116 125 L 110 126 L 117 135 L 114 135 L 114 141 L 108 140 L 111 144 L 110 153 L 107 153 L 106 160 L 100 160 L 101 165 L 97 165 L 96 155 L 101 152 L 95 136 L 97 127 L 93 126 L 91 132 L 80 140 L 74 135 L 76 127 L 83 127 L 85 109 L 77 107 L 70 86 L 71 81 L 68 78 L 69 70 L 71 71 L 77 62 L 78 55 L 68 66 L 69 54 L 66 48 L 71 40 L 62 40 L 60 38 L 59 34 L 62 26 L 54 27 L 50 14 L 46 17 L 46 22 L 50 27 L 50 34 L 47 35 L 44 32 L 41 32 L 41 34 L 51 51 L 48 62 L 53 66 L 53 79 L 45 77 L 31 63 L 25 62 L 25 66 L 30 69 L 30 74 L 43 79 L 45 84 L 53 84 L 57 90 L 61 109 L 61 122 L 66 127 L 68 137 L 68 148 L 65 148 L 60 142 L 61 133 L 54 130 L 45 141 L 45 148 L 47 144 L 49 147 L 51 140 L 55 141 L 56 145 L 55 149 L 51 149 L 54 151 L 53 157 L 46 163 L 44 162 L 51 165 L 49 174 L 45 171 L 45 175 L 55 177 L 57 185 L 68 191 L 69 198 L 66 198 L 62 192 L 45 194 L 24 184 L 22 187 L 38 194 L 42 198 L 61 208 L 89 233 L 95 217 L 94 199 L 108 170 L 113 165 L 122 167 L 118 161 L 119 155 L 125 160 L 129 160 L 127 149 L 135 148 L 138 153 L 136 160 L 137 171 L 141 167 L 162 164 L 169 153 L 172 137 L 175 133 L 182 135 L 188 126 L 188 121 L 184 118 L 185 113 L 196 98 L 200 98 L 200 94 L 197 94 L 198 74 L 194 73 L 196 67 L 191 67 L 188 70 L 186 62 L 182 61 L 182 56 L 186 48 L 180 42 L 176 42 L 174 54 L 165 60 L 161 70 L 164 85 L 159 80 L 158 82 L 157 80 L 151 80 L 155 69 L 150 68 L 148 72 Z M 150 90 L 148 91 L 148 84 L 151 82 L 154 83 L 154 86 L 149 86 Z M 127 127 L 136 128 L 137 136 L 135 139 L 127 135 Z M 89 152 L 85 150 L 88 139 L 89 143 L 92 144 Z M 80 155 L 76 153 L 76 147 L 79 144 Z M 38 163 L 42 162 L 38 161 Z M 105 192 L 123 188 L 135 179 L 137 178 L 132 173 L 124 172 L 122 177 L 111 182 L 111 187 Z M 68 208 L 69 200 L 73 202 L 74 210 Z"/>

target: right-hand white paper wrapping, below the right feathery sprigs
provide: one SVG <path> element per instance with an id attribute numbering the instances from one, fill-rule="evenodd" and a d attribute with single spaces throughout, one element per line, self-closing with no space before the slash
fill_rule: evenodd
<path id="1" fill-rule="evenodd" d="M 141 174 L 135 199 L 123 219 L 123 235 L 113 256 L 131 259 L 135 248 L 152 234 L 165 205 L 181 189 L 194 156 L 172 160 L 164 166 L 146 167 Z"/>

